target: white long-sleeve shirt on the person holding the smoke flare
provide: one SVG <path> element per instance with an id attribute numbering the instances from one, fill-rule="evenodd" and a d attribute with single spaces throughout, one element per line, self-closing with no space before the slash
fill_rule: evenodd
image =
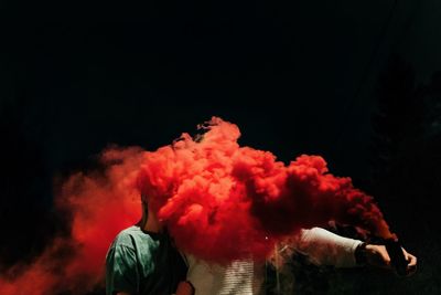
<path id="1" fill-rule="evenodd" d="M 313 228 L 302 230 L 286 246 L 306 255 L 316 265 L 352 267 L 356 265 L 354 252 L 361 243 Z M 252 260 L 220 266 L 189 255 L 187 280 L 194 285 L 195 295 L 254 295 L 258 294 L 263 281 L 261 268 Z"/>

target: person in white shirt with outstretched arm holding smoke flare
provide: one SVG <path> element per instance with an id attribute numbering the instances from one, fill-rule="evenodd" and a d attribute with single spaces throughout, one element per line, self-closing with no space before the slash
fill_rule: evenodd
<path id="1" fill-rule="evenodd" d="M 279 267 L 282 263 L 280 256 L 293 252 L 306 255 L 316 265 L 356 267 L 366 264 L 392 270 L 384 245 L 366 244 L 321 228 L 302 230 L 287 240 L 275 251 L 272 263 Z M 407 274 L 410 275 L 416 271 L 417 257 L 404 249 L 402 253 L 408 262 Z M 187 280 L 193 284 L 195 295 L 256 295 L 263 292 L 263 271 L 265 263 L 255 263 L 251 257 L 223 266 L 189 255 Z"/>

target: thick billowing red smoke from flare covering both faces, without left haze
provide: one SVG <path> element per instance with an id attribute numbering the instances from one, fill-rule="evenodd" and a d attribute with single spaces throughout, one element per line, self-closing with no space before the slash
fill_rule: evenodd
<path id="1" fill-rule="evenodd" d="M 203 259 L 265 259 L 301 228 L 335 220 L 390 238 L 372 197 L 327 172 L 319 156 L 289 166 L 269 151 L 240 147 L 234 124 L 213 118 L 202 140 L 183 134 L 146 154 L 138 187 L 176 244 Z"/>

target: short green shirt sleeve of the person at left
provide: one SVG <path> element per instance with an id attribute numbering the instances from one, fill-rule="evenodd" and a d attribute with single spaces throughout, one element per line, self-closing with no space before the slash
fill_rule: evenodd
<path id="1" fill-rule="evenodd" d="M 139 273 L 137 255 L 127 245 L 112 245 L 106 256 L 106 294 L 117 292 L 138 294 Z"/>

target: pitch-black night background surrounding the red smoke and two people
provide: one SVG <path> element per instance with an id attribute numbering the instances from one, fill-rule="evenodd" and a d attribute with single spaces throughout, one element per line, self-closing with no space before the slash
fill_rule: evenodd
<path id="1" fill-rule="evenodd" d="M 308 268 L 300 294 L 440 293 L 438 0 L 0 9 L 1 270 L 68 228 L 54 176 L 110 144 L 155 149 L 215 115 L 282 161 L 323 156 L 419 257 L 407 280 Z"/>

